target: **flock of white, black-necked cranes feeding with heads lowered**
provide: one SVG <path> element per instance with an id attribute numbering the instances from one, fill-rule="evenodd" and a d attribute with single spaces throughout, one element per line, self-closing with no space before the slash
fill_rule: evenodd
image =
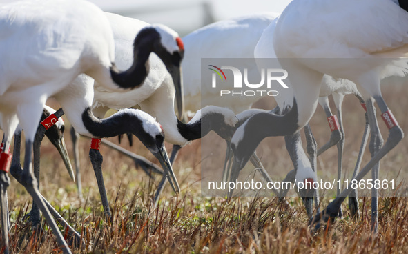
<path id="1" fill-rule="evenodd" d="M 378 180 L 380 160 L 404 137 L 380 90 L 382 79 L 404 76 L 408 68 L 408 13 L 400 1 L 293 0 L 282 14 L 219 21 L 183 39 L 167 26 L 102 12 L 84 0 L 20 0 L 1 2 L 0 6 L 0 57 L 8 63 L 0 67 L 0 204 L 5 253 L 10 228 L 9 170 L 34 200 L 29 214 L 33 226 L 39 224 L 41 211 L 64 253 L 71 251 L 52 217 L 64 223 L 71 235 L 81 237 L 39 193 L 39 147 L 44 135 L 57 147 L 75 180 L 61 115 L 66 115 L 75 129 L 72 133 L 92 138 L 90 161 L 109 218 L 101 143 L 122 151 L 146 170 L 162 173 L 154 197 L 157 204 L 166 180 L 176 194 L 180 193 L 171 165 L 179 148 L 211 130 L 227 142 L 224 181 L 234 182 L 251 160 L 262 177 L 272 182 L 274 177 L 264 168 L 255 149 L 265 137 L 284 136 L 294 166 L 285 180 L 298 186 L 318 182 L 316 157 L 334 145 L 338 148 L 337 179 L 341 179 L 347 141 L 342 119 L 344 95 L 355 95 L 367 111 L 352 179 L 360 181 L 371 170 L 373 181 Z M 344 20 L 347 22 L 340 22 Z M 214 57 L 251 59 L 244 68 L 252 73 L 262 73 L 274 59 L 279 68 L 295 74 L 286 79 L 289 89 L 280 90 L 274 97 L 276 108 L 251 109 L 262 97 L 220 99 L 209 86 L 201 84 L 201 59 Z M 337 115 L 331 113 L 329 95 L 333 96 Z M 61 109 L 46 106 L 50 97 L 58 101 Z M 210 105 L 208 101 L 218 104 Z M 389 129 L 385 144 L 374 103 Z M 324 109 L 331 129 L 330 140 L 320 149 L 309 126 L 317 104 Z M 110 108 L 119 111 L 104 118 Z M 194 113 L 187 123 L 182 121 L 185 110 Z M 307 139 L 307 153 L 300 139 L 301 128 Z M 19 155 L 22 131 L 26 137 L 23 167 Z M 163 171 L 147 159 L 101 140 L 125 133 L 135 135 L 159 160 Z M 369 133 L 371 159 L 358 172 Z M 13 135 L 14 157 L 10 153 Z M 77 137 L 72 137 L 74 148 Z M 176 145 L 172 159 L 168 158 L 164 141 Z M 76 149 L 75 159 L 78 156 Z M 81 190 L 79 166 L 76 168 Z M 300 190 L 313 231 L 329 219 L 342 216 L 341 204 L 346 197 L 351 215 L 358 217 L 356 188 L 336 190 L 336 199 L 322 211 L 318 190 Z M 287 191 L 282 188 L 274 193 L 282 200 Z M 232 194 L 229 192 L 229 197 Z M 376 233 L 378 190 L 374 188 L 371 196 L 371 230 Z"/>

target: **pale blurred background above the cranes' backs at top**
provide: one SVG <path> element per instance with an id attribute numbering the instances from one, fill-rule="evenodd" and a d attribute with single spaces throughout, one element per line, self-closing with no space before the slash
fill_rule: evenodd
<path id="1" fill-rule="evenodd" d="M 90 0 L 106 12 L 163 23 L 182 37 L 189 32 L 222 19 L 257 12 L 282 12 L 291 0 Z"/>

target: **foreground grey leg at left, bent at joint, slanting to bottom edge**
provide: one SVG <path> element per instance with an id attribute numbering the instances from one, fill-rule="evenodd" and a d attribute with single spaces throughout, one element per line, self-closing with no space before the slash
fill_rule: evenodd
<path id="1" fill-rule="evenodd" d="M 50 226 L 55 237 L 57 237 L 59 248 L 61 248 L 63 253 L 72 253 L 68 248 L 68 244 L 66 244 L 64 237 L 62 237 L 62 234 L 59 231 L 57 224 L 55 223 L 54 219 L 52 219 L 50 211 L 48 211 L 48 208 L 46 204 L 43 202 L 41 194 L 37 189 L 37 179 L 35 179 L 32 170 L 31 155 L 32 155 L 32 141 L 28 140 L 26 141 L 24 169 L 23 172 L 19 174 L 19 179 L 17 179 L 17 181 L 21 182 L 21 184 L 23 184 L 23 186 L 26 187 L 26 190 L 32 196 L 34 202 L 37 203 L 37 206 L 39 206 L 40 210 L 43 212 L 43 215 L 48 222 L 48 226 Z"/>

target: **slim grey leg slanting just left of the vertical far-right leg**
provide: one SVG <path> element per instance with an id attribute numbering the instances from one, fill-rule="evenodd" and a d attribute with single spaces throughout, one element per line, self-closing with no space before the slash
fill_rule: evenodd
<path id="1" fill-rule="evenodd" d="M 365 113 L 365 118 L 366 118 L 366 123 L 365 123 L 364 133 L 362 134 L 360 150 L 358 151 L 356 166 L 353 172 L 353 179 L 356 178 L 358 170 L 360 169 L 361 162 L 362 162 L 362 155 L 364 154 L 365 146 L 367 145 L 367 140 L 369 138 L 370 126 L 369 126 L 369 119 L 368 119 L 367 113 Z M 355 220 L 359 219 L 360 215 L 358 214 L 358 190 L 357 188 L 353 189 L 353 191 L 349 195 L 349 210 L 351 213 L 351 217 L 353 219 Z"/>

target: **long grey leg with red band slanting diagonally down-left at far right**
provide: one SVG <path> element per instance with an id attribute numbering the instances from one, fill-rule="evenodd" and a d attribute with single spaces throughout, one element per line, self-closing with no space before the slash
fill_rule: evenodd
<path id="1" fill-rule="evenodd" d="M 385 104 L 384 99 L 382 99 L 381 96 L 375 97 L 376 102 L 382 112 L 382 114 L 386 114 L 387 111 L 389 111 L 389 108 L 387 107 L 387 104 Z M 373 117 L 375 117 L 375 113 L 373 112 L 373 107 L 367 106 L 367 113 L 369 114 L 369 124 L 371 128 L 373 128 L 374 124 L 373 123 Z M 371 115 L 371 117 L 370 117 Z M 354 178 L 356 179 L 357 182 L 359 182 L 367 173 L 369 173 L 369 170 L 373 168 L 373 166 L 376 166 L 376 164 L 384 157 L 392 148 L 394 148 L 404 137 L 404 133 L 402 132 L 402 129 L 400 126 L 398 126 L 398 123 L 395 121 L 394 124 L 389 126 L 389 136 L 387 138 L 387 141 L 385 142 L 384 146 L 380 148 L 378 153 L 376 153 L 373 157 L 371 157 L 370 161 L 362 168 L 360 173 Z M 345 190 L 342 191 L 339 197 L 336 197 L 325 209 L 322 211 L 322 213 L 319 213 L 318 215 L 315 215 L 313 217 L 309 224 L 313 226 L 313 231 L 318 230 L 320 226 L 322 225 L 322 222 L 327 222 L 329 219 L 336 219 L 338 215 L 338 209 L 340 208 L 342 202 L 344 199 L 350 195 L 352 191 L 351 188 L 351 182 L 349 186 Z M 376 214 L 375 214 L 376 215 Z M 376 232 L 376 225 L 377 222 L 372 221 L 371 223 L 374 224 L 372 226 L 372 230 Z"/>

